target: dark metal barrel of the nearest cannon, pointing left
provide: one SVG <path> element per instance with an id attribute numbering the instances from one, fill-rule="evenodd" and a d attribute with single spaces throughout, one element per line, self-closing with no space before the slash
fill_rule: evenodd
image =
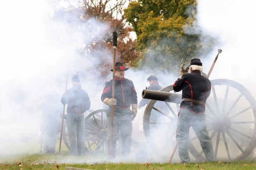
<path id="1" fill-rule="evenodd" d="M 164 102 L 172 102 L 177 104 L 180 104 L 181 102 L 181 94 L 146 89 L 142 91 L 142 98 L 159 100 Z"/>

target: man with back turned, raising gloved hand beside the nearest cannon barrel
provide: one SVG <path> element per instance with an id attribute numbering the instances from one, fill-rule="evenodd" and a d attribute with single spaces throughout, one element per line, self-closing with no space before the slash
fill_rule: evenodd
<path id="1" fill-rule="evenodd" d="M 189 67 L 180 67 L 180 77 L 173 84 L 174 91 L 182 90 L 182 102 L 178 114 L 176 139 L 181 163 L 189 163 L 190 156 L 187 150 L 189 129 L 192 126 L 196 133 L 207 161 L 214 161 L 213 145 L 209 137 L 206 118 L 205 102 L 211 93 L 211 82 L 201 75 L 202 63 L 199 58 L 194 58 Z"/>

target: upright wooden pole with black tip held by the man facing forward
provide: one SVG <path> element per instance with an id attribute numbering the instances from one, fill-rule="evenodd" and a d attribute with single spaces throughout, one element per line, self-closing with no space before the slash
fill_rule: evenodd
<path id="1" fill-rule="evenodd" d="M 113 32 L 113 49 L 114 49 L 114 57 L 113 57 L 113 78 L 112 78 L 112 98 L 115 98 L 115 74 L 116 74 L 116 47 L 117 47 L 117 32 Z M 111 129 L 110 129 L 110 147 L 109 147 L 109 155 L 112 158 L 112 143 L 113 143 L 113 123 L 114 120 L 114 106 L 111 106 Z"/>

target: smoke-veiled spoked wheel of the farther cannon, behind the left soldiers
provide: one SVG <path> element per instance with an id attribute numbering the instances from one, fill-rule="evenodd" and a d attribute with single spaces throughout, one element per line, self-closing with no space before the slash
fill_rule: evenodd
<path id="1" fill-rule="evenodd" d="M 106 151 L 107 141 L 107 110 L 99 109 L 91 112 L 85 117 L 85 151 L 95 152 L 98 150 Z M 70 147 L 69 134 L 64 123 L 64 143 Z M 100 149 L 101 148 L 101 149 Z"/>

